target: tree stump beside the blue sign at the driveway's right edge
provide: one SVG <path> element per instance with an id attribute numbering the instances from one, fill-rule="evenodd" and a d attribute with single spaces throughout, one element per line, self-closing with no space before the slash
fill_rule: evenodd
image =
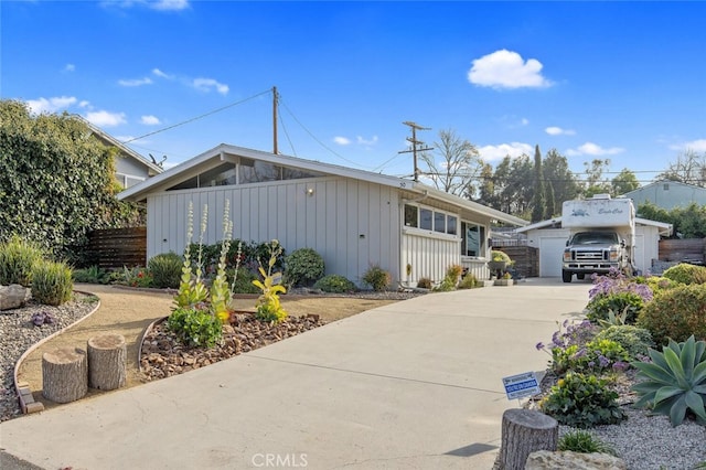
<path id="1" fill-rule="evenodd" d="M 555 451 L 559 438 L 556 419 L 532 409 L 507 409 L 503 413 L 501 470 L 523 470 L 530 453 Z"/>

